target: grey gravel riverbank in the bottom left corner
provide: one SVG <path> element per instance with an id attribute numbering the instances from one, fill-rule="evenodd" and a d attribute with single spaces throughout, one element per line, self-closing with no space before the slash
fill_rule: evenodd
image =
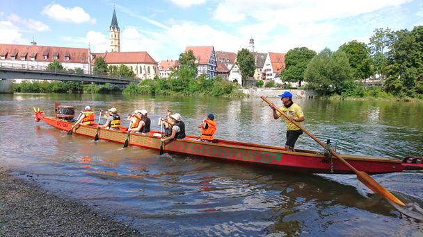
<path id="1" fill-rule="evenodd" d="M 0 236 L 141 236 L 0 167 Z"/>

